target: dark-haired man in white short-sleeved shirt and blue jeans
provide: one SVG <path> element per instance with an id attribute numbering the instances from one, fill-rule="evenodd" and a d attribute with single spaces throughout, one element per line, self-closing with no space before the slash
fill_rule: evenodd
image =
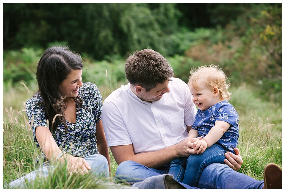
<path id="1" fill-rule="evenodd" d="M 171 160 L 194 153 L 193 142 L 199 138 L 188 138 L 187 129 L 197 110 L 187 84 L 173 78 L 173 69 L 158 52 L 135 51 L 126 60 L 125 73 L 129 84 L 104 100 L 102 121 L 118 163 L 116 177 L 133 184 L 167 175 Z M 243 163 L 239 150 L 234 150 L 236 154 L 225 154 L 226 165 L 214 163 L 205 168 L 198 188 L 264 187 L 263 181 L 234 171 Z"/>

